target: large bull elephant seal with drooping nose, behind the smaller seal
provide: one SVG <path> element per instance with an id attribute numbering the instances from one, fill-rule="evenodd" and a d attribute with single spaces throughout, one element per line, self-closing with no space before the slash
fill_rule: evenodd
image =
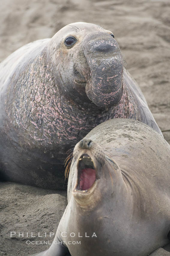
<path id="1" fill-rule="evenodd" d="M 18 49 L 0 65 L 3 180 L 64 188 L 66 152 L 111 118 L 142 121 L 159 133 L 112 32 L 72 23 Z"/>

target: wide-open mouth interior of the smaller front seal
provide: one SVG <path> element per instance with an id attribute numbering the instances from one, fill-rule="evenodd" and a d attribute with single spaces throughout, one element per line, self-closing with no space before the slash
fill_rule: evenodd
<path id="1" fill-rule="evenodd" d="M 76 190 L 86 192 L 90 189 L 97 179 L 97 173 L 94 168 L 92 159 L 87 154 L 83 154 L 79 158 L 78 164 L 78 183 Z"/>

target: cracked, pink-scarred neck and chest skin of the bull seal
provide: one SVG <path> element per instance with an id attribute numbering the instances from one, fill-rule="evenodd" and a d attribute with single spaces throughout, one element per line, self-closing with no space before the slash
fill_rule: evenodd
<path id="1" fill-rule="evenodd" d="M 137 101 L 130 89 L 124 87 L 121 101 L 110 108 L 100 108 L 93 102 L 76 104 L 62 95 L 57 81 L 52 76 L 49 63 L 44 63 L 44 55 L 29 66 L 29 71 L 8 89 L 5 112 L 9 123 L 20 134 L 20 143 L 27 146 L 56 149 L 52 152 L 58 158 L 66 157 L 66 151 L 98 124 L 111 118 L 131 118 L 140 120 Z M 43 75 L 42 75 L 43 74 Z M 12 106 L 12 108 L 11 108 Z M 5 123 L 4 123 L 5 126 Z"/>

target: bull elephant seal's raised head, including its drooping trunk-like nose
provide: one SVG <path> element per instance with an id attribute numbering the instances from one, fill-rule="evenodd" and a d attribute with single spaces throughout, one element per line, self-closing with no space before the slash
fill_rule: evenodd
<path id="1" fill-rule="evenodd" d="M 71 23 L 53 36 L 49 47 L 64 95 L 99 107 L 118 104 L 123 60 L 111 31 L 91 23 Z"/>

